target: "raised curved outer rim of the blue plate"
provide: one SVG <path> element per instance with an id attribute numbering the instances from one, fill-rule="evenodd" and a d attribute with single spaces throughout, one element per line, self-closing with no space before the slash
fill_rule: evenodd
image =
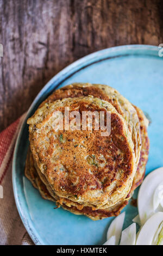
<path id="1" fill-rule="evenodd" d="M 31 239 L 33 240 L 33 242 L 35 243 L 35 245 L 45 245 L 45 242 L 43 242 L 43 240 L 41 239 L 38 231 L 36 230 L 34 223 L 32 220 L 26 220 L 26 218 L 23 216 L 23 211 L 24 209 L 21 208 L 21 202 L 20 199 L 18 197 L 18 193 L 17 193 L 17 182 L 16 182 L 16 161 L 17 161 L 17 151 L 18 151 L 18 145 L 20 144 L 20 137 L 22 136 L 23 133 L 23 129 L 26 125 L 26 119 L 29 115 L 29 113 L 32 111 L 32 109 L 34 108 L 36 102 L 39 101 L 41 95 L 47 91 L 47 89 L 52 88 L 52 90 L 55 90 L 57 87 L 59 87 L 59 85 L 64 82 L 64 80 L 66 80 L 66 74 L 71 72 L 72 76 L 75 72 L 78 72 L 80 69 L 82 69 L 85 65 L 85 68 L 93 63 L 96 63 L 108 58 L 114 58 L 116 57 L 116 53 L 117 52 L 121 52 L 121 51 L 125 51 L 125 50 L 131 50 L 131 52 L 133 50 L 149 50 L 149 51 L 153 51 L 153 52 L 157 52 L 159 51 L 159 47 L 158 46 L 154 46 L 154 45 L 141 45 L 141 44 L 136 44 L 136 45 L 122 45 L 122 46 L 115 46 L 115 47 L 110 47 L 110 48 L 105 48 L 103 50 L 100 51 L 96 51 L 93 52 L 91 54 L 88 54 L 78 60 L 76 60 L 75 62 L 73 62 L 72 64 L 66 66 L 66 68 L 62 69 L 60 72 L 58 72 L 58 74 L 54 75 L 51 80 L 49 80 L 45 86 L 40 90 L 40 92 L 36 95 L 35 99 L 33 100 L 32 104 L 30 105 L 28 111 L 26 112 L 26 114 L 24 114 L 24 118 L 22 121 L 22 124 L 20 125 L 19 131 L 18 131 L 18 135 L 16 138 L 16 143 L 15 143 L 15 147 L 14 147 L 14 153 L 13 153 L 13 158 L 12 158 L 12 188 L 14 191 L 14 198 L 15 198 L 15 203 L 16 203 L 16 208 L 18 210 L 18 214 L 21 217 L 22 223 L 24 225 L 24 227 L 26 228 L 28 234 L 30 235 Z M 106 56 L 108 56 L 108 54 L 110 54 L 110 57 L 104 57 L 106 54 Z M 128 55 L 131 55 L 132 53 L 129 53 Z M 123 54 L 123 52 L 121 52 L 121 56 L 124 56 L 125 54 Z M 135 54 L 134 54 L 135 55 Z M 141 55 L 141 53 L 139 53 L 139 55 Z M 153 54 L 151 55 L 153 56 Z M 159 56 L 157 56 L 159 57 Z M 100 59 L 101 58 L 101 59 Z M 94 62 L 93 62 L 94 60 Z M 79 68 L 80 67 L 80 68 Z M 55 81 L 59 81 L 58 86 L 53 86 Z"/>

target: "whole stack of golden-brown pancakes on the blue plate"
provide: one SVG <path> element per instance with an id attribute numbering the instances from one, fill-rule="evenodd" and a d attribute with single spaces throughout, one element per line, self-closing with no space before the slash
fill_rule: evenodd
<path id="1" fill-rule="evenodd" d="M 82 119 L 90 111 L 110 115 L 110 133 L 102 128 L 56 129 L 56 115 L 67 122 L 65 109 Z M 117 216 L 145 175 L 148 120 L 114 88 L 73 83 L 55 90 L 28 119 L 30 148 L 25 175 L 43 198 L 57 207 L 92 220 Z M 73 126 L 74 127 L 74 126 Z"/>

